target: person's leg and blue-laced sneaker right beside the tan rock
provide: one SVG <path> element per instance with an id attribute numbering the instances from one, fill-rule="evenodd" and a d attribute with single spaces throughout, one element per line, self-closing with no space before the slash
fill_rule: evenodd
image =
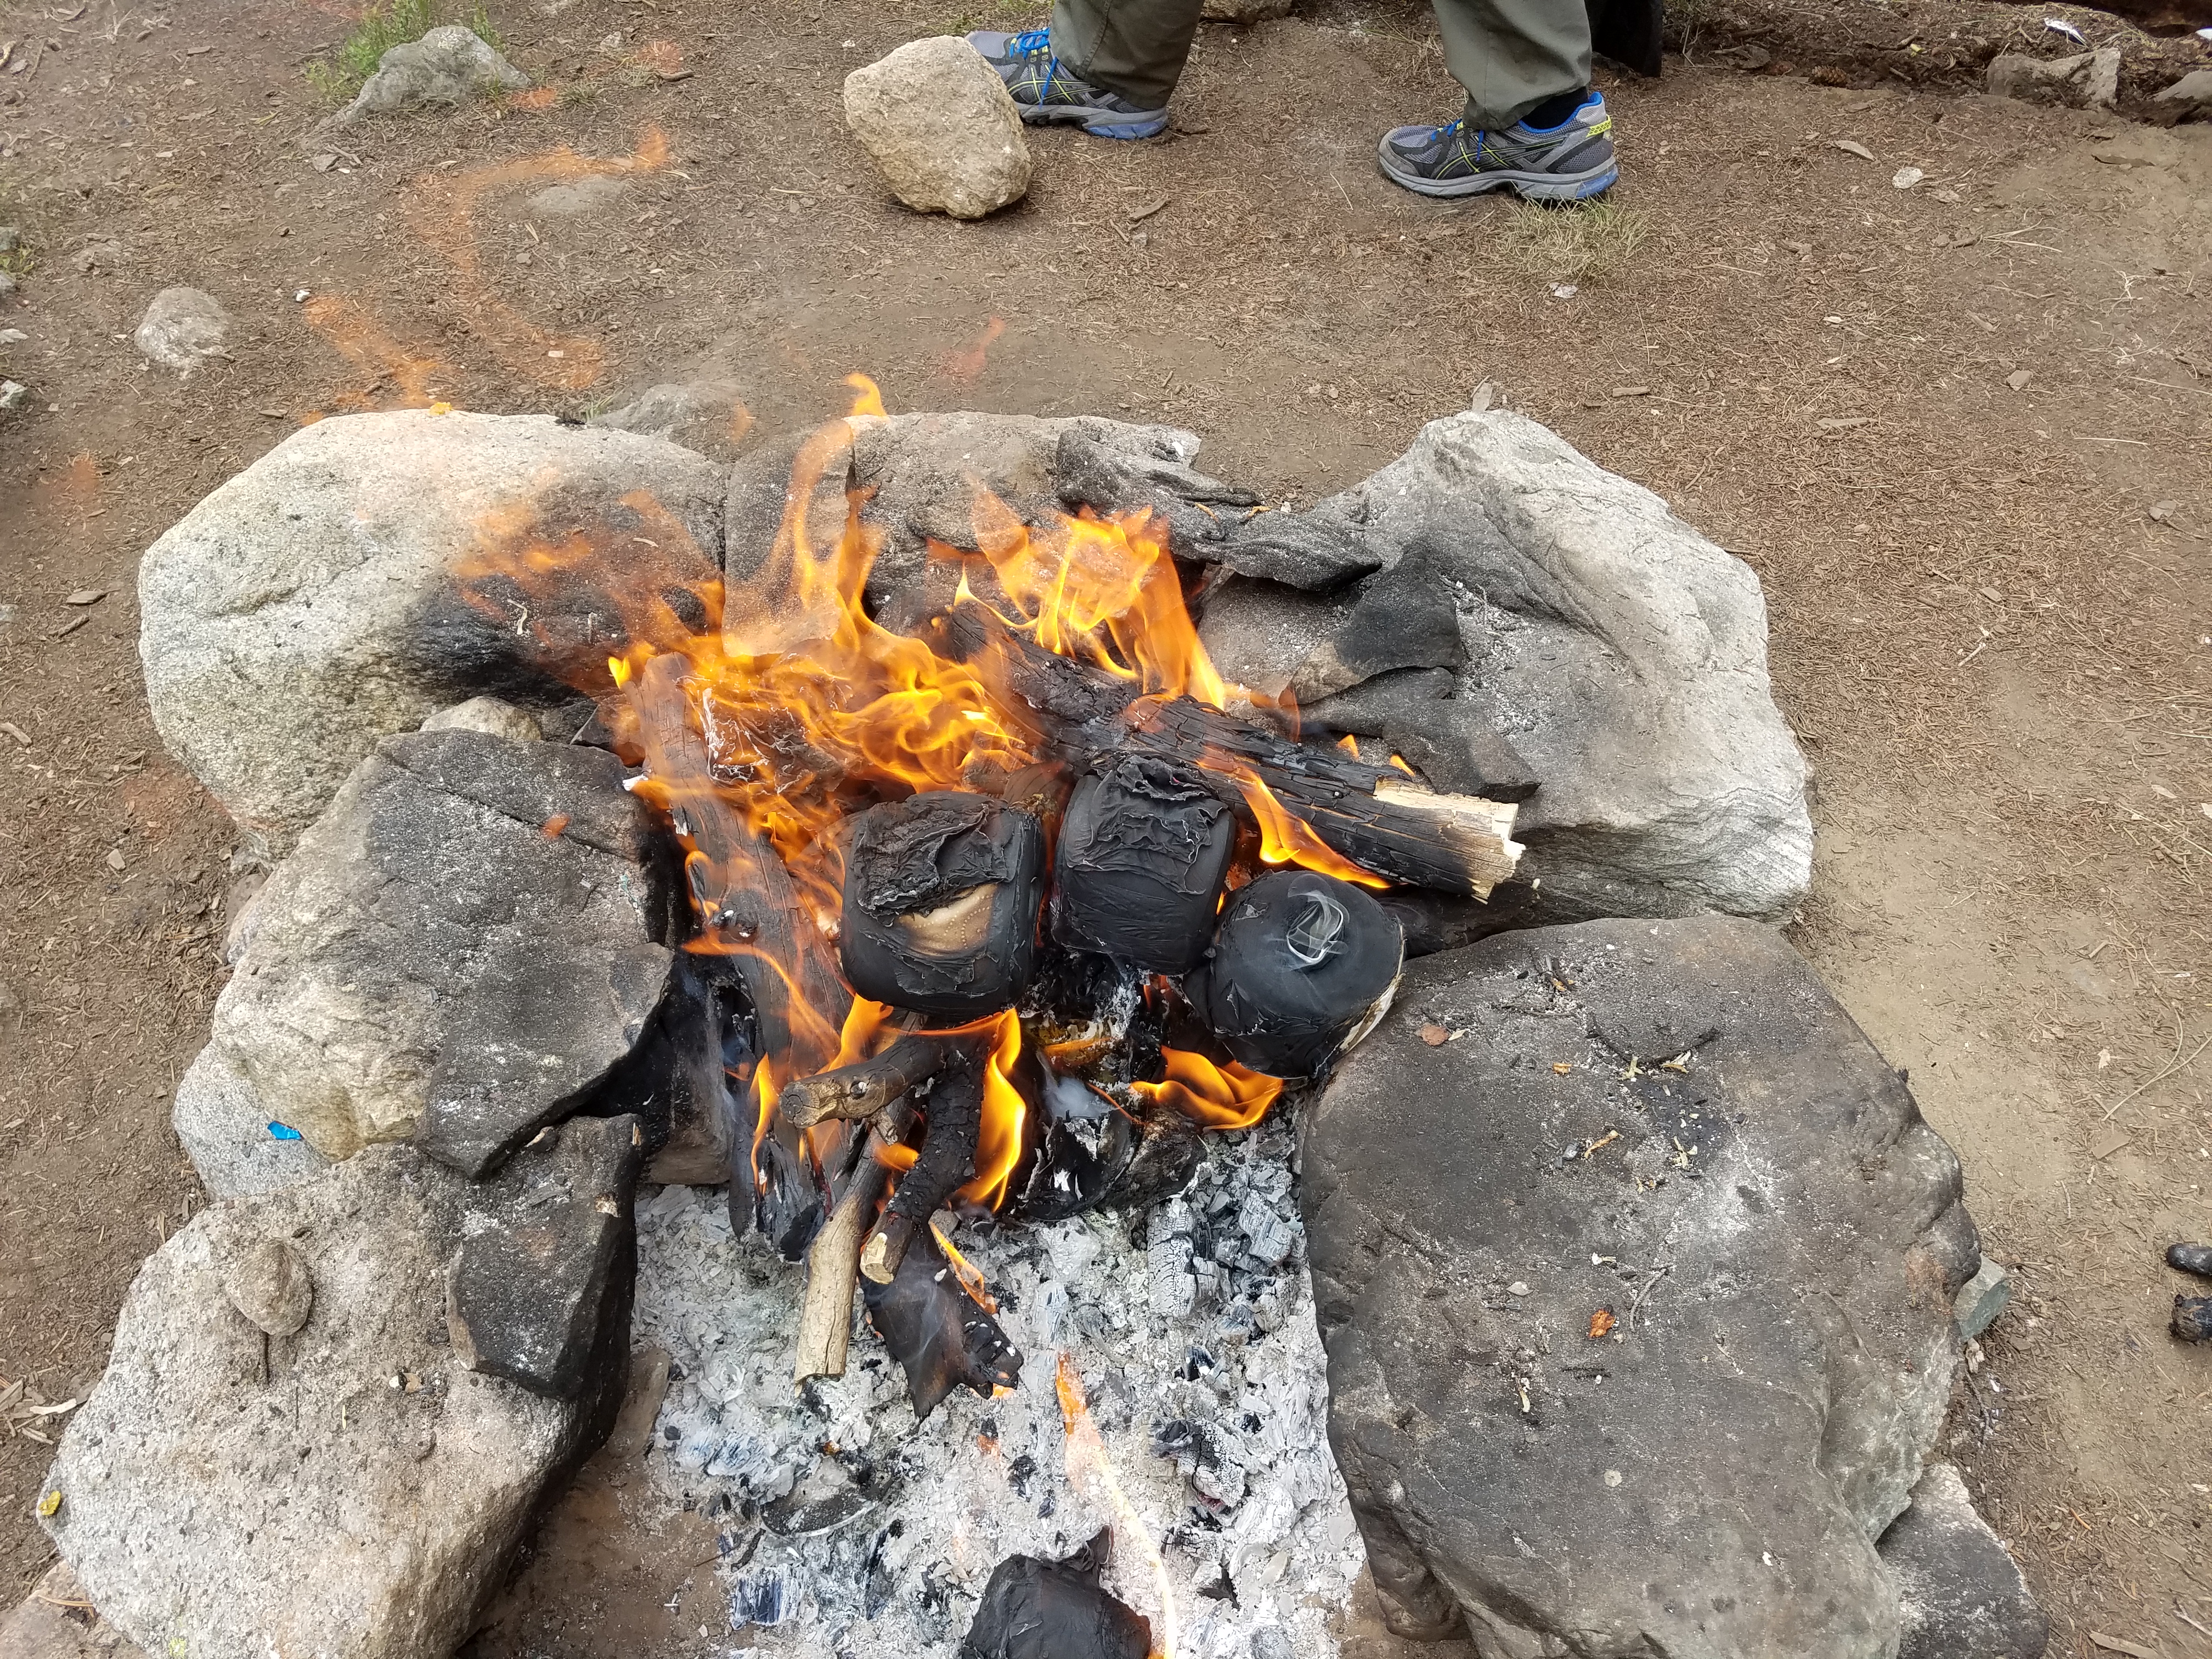
<path id="1" fill-rule="evenodd" d="M 1024 122 L 1079 122 L 1097 137 L 1152 137 L 1190 58 L 1203 0 L 1057 0 L 1051 29 L 980 31 L 969 44 L 1006 82 Z"/>

